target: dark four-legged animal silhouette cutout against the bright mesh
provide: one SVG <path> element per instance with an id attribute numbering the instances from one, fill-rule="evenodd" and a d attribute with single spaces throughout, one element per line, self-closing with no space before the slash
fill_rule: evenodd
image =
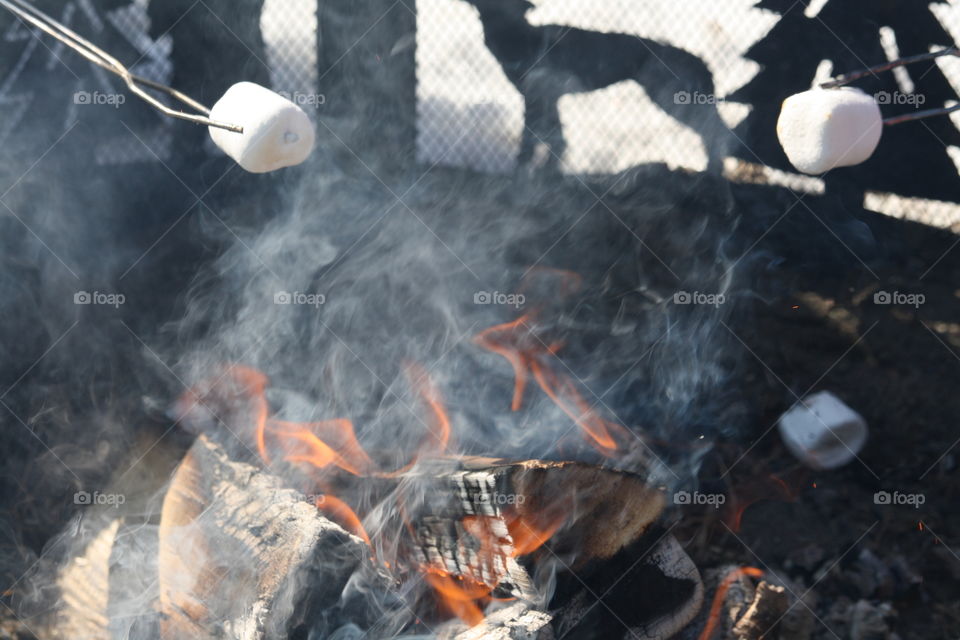
<path id="1" fill-rule="evenodd" d="M 480 12 L 484 43 L 523 96 L 525 126 L 519 161 L 529 164 L 538 143 L 557 168 L 564 139 L 557 101 L 565 94 L 634 80 L 667 114 L 703 139 L 708 170 L 719 172 L 730 131 L 720 118 L 713 76 L 688 51 L 622 33 L 558 25 L 533 26 L 526 0 L 466 0 Z"/>

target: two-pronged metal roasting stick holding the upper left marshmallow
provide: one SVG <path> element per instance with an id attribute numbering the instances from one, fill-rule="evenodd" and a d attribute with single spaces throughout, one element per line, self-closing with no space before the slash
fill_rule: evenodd
<path id="1" fill-rule="evenodd" d="M 168 87 L 164 84 L 160 84 L 158 82 L 154 82 L 153 80 L 148 80 L 147 78 L 143 78 L 131 73 L 129 69 L 127 69 L 123 64 L 120 63 L 119 60 L 111 56 L 109 53 L 96 46 L 86 38 L 75 33 L 71 29 L 67 28 L 60 22 L 57 22 L 28 2 L 25 2 L 24 0 L 0 0 L 0 6 L 8 9 L 11 13 L 16 15 L 24 22 L 33 25 L 47 35 L 56 38 L 90 62 L 103 67 L 107 71 L 115 73 L 123 79 L 131 92 L 161 113 L 164 113 L 172 118 L 179 118 L 180 120 L 186 120 L 195 124 L 226 129 L 227 131 L 233 131 L 235 133 L 243 133 L 243 127 L 241 126 L 229 124 L 227 122 L 211 120 L 208 117 L 210 115 L 210 109 L 200 104 L 190 96 L 183 94 L 172 87 Z M 175 100 L 178 100 L 179 102 L 195 109 L 196 111 L 199 111 L 203 115 L 171 109 L 144 91 L 141 85 L 157 91 L 162 91 Z"/>

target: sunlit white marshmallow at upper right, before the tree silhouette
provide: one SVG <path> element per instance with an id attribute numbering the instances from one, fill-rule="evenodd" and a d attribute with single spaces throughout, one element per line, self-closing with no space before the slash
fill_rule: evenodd
<path id="1" fill-rule="evenodd" d="M 798 170 L 819 174 L 860 164 L 880 142 L 883 117 L 859 89 L 811 89 L 783 101 L 777 137 Z"/>

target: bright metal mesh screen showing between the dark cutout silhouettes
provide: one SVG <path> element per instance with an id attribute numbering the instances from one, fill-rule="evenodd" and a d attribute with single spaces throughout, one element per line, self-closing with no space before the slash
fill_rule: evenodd
<path id="1" fill-rule="evenodd" d="M 169 82 L 171 38 L 163 36 L 153 40 L 148 35 L 149 1 L 73 0 L 62 5 L 57 16 L 68 23 L 83 23 L 94 37 L 104 36 L 105 44 L 111 42 L 106 36 L 115 32 L 111 36 L 113 41 L 122 41 L 134 52 L 138 60 L 134 65 L 136 72 Z M 491 34 L 486 33 L 482 21 L 487 11 L 484 7 L 491 3 L 520 6 L 522 11 L 515 16 L 524 22 L 529 28 L 528 35 L 534 38 L 543 28 L 560 25 L 589 32 L 593 38 L 590 42 L 598 45 L 612 34 L 635 36 L 636 45 L 625 49 L 623 55 L 636 57 L 638 62 L 646 59 L 649 63 L 658 58 L 655 51 L 645 50 L 649 49 L 645 43 L 667 43 L 693 54 L 713 76 L 712 93 L 687 92 L 678 94 L 677 100 L 700 101 L 705 109 L 715 109 L 730 128 L 743 122 L 751 111 L 750 105 L 727 99 L 751 81 L 760 69 L 756 61 L 746 56 L 750 47 L 770 32 L 780 20 L 780 13 L 789 11 L 794 16 L 803 13 L 814 20 L 817 13 L 829 5 L 823 1 L 800 2 L 794 6 L 783 3 L 784 8 L 789 8 L 778 13 L 758 8 L 775 3 L 758 5 L 755 0 L 723 3 L 712 0 L 683 3 L 673 0 L 537 0 L 534 3 L 418 0 L 416 47 L 412 55 L 416 56 L 417 68 L 416 157 L 422 163 L 490 172 L 507 172 L 518 165 L 524 137 L 530 137 L 529 105 L 525 107 L 524 89 L 510 80 L 504 64 L 526 65 L 526 72 L 533 76 L 547 52 L 540 50 L 521 56 L 519 63 L 498 59 L 485 42 L 485 37 Z M 213 10 L 213 5 L 201 4 Z M 413 7 L 412 2 L 410 6 Z M 960 37 L 960 3 L 918 6 L 916 10 L 932 11 L 954 40 Z M 192 13 L 199 11 L 194 9 Z M 186 15 L 184 19 L 190 20 L 191 16 Z M 318 0 L 264 0 L 259 16 L 272 87 L 305 107 L 317 107 L 324 101 L 324 89 L 317 86 L 318 20 Z M 890 33 L 895 35 L 896 31 L 897 25 L 894 25 Z M 884 42 L 885 51 L 891 47 L 895 51 L 895 37 L 890 33 Z M 17 56 L 49 55 L 22 25 L 13 24 L 0 37 L 3 46 Z M 363 37 L 370 36 L 364 34 Z M 560 38 L 550 49 L 559 51 L 568 44 Z M 584 57 L 592 55 L 590 50 L 580 53 Z M 324 64 L 330 62 L 335 63 L 325 61 Z M 56 62 L 51 57 L 48 64 Z M 938 64 L 953 89 L 960 90 L 960 59 L 941 59 Z M 30 101 L 18 84 L 21 67 L 18 60 L 8 62 L 6 76 L 0 79 L 0 106 L 4 109 L 0 142 L 17 128 L 29 111 Z M 831 61 L 824 60 L 818 73 L 843 70 L 831 67 Z M 114 79 L 101 78 L 102 75 L 94 75 L 97 86 L 78 86 L 77 89 L 119 91 Z M 906 72 L 897 79 L 901 86 L 909 88 L 905 84 L 909 81 Z M 584 90 L 578 80 L 582 79 L 561 78 L 569 87 L 564 84 L 554 96 L 560 129 L 556 135 L 564 141 L 559 154 L 562 157 L 556 160 L 563 171 L 614 173 L 647 162 L 663 162 L 672 168 L 703 169 L 706 166 L 708 157 L 700 133 L 651 100 L 651 90 L 658 87 L 645 85 L 642 79 L 638 81 L 629 74 L 606 78 L 602 86 L 590 90 Z M 811 73 L 809 83 L 814 80 Z M 65 100 L 69 100 L 69 95 Z M 315 113 L 313 109 L 308 111 Z M 68 105 L 67 120 L 74 112 Z M 960 124 L 960 114 L 955 114 L 954 122 Z M 171 126 L 175 124 L 156 116 L 138 129 L 160 159 L 169 153 Z M 540 153 L 550 153 L 548 145 L 538 146 Z M 949 146 L 947 152 L 955 160 L 960 159 L 960 149 Z M 119 130 L 116 136 L 98 146 L 96 158 L 101 163 L 144 161 L 151 160 L 151 152 L 144 144 L 131 140 L 126 131 Z"/>

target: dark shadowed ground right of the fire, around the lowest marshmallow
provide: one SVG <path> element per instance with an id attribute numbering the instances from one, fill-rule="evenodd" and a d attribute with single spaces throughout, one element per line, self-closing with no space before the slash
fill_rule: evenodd
<path id="1" fill-rule="evenodd" d="M 774 190 L 741 193 L 779 206 L 790 200 Z M 809 202 L 824 219 L 836 204 L 826 196 Z M 957 238 L 861 210 L 854 217 L 876 240 L 875 251 L 861 252 L 829 237 L 813 213 L 794 213 L 797 225 L 824 232 L 803 236 L 811 254 L 833 257 L 786 260 L 775 276 L 779 295 L 754 308 L 752 331 L 740 337 L 753 352 L 743 385 L 762 407 L 755 435 L 709 455 L 702 486 L 732 501 L 698 509 L 679 530 L 702 571 L 752 565 L 812 597 L 805 601 L 814 638 L 958 638 Z M 804 250 L 796 228 L 774 229 L 765 240 L 773 255 Z M 923 301 L 877 304 L 874 294 L 884 291 Z M 857 460 L 817 472 L 785 449 L 774 425 L 794 394 L 808 390 L 832 391 L 864 416 L 870 438 Z M 879 491 L 919 494 L 922 504 L 877 504 Z M 858 601 L 882 623 L 855 635 Z"/>

